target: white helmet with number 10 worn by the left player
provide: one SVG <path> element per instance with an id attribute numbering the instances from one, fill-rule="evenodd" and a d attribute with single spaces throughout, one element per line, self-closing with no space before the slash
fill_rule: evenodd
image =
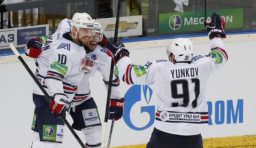
<path id="1" fill-rule="evenodd" d="M 88 13 L 75 13 L 71 19 L 70 23 L 71 32 L 73 33 L 73 27 L 76 27 L 77 32 L 79 32 L 79 28 L 94 28 L 94 21 L 92 20 L 92 17 Z M 94 35 L 95 32 L 92 31 L 92 35 Z M 73 36 L 73 35 L 72 35 Z M 74 39 L 76 38 L 73 37 Z"/>

